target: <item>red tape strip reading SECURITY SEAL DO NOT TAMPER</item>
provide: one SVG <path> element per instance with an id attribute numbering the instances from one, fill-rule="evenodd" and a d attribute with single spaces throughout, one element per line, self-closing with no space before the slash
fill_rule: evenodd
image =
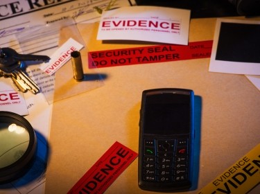
<path id="1" fill-rule="evenodd" d="M 89 52 L 89 69 L 210 58 L 213 40 Z M 92 61 L 91 61 L 92 60 Z"/>

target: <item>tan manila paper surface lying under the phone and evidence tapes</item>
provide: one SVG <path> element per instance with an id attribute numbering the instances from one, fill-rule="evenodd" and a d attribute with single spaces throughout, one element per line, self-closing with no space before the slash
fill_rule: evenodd
<path id="1" fill-rule="evenodd" d="M 215 24 L 191 19 L 189 42 L 213 39 Z M 97 28 L 78 25 L 89 51 L 144 46 L 102 44 Z M 189 193 L 223 173 L 260 142 L 260 92 L 243 75 L 208 67 L 209 58 L 103 68 L 105 85 L 54 103 L 45 193 L 67 193 L 115 141 L 138 152 L 141 92 L 159 87 L 193 89 L 202 98 L 198 188 Z M 148 193 L 137 185 L 137 159 L 106 193 Z"/>

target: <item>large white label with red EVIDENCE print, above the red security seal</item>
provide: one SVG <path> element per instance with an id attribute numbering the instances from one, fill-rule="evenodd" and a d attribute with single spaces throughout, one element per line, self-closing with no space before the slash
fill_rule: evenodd
<path id="1" fill-rule="evenodd" d="M 97 39 L 188 44 L 190 10 L 156 6 L 123 7 L 103 12 Z"/>

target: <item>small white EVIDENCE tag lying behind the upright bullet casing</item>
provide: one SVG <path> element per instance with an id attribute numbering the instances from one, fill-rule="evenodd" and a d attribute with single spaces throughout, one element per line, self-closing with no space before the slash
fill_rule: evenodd
<path id="1" fill-rule="evenodd" d="M 80 51 L 83 45 L 70 38 L 58 48 L 51 56 L 51 60 L 41 65 L 40 69 L 46 72 L 49 76 L 58 71 L 71 58 L 71 52 Z"/>

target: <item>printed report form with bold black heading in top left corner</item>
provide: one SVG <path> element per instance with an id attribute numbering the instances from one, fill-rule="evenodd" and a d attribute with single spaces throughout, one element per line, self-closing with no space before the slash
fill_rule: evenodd
<path id="1" fill-rule="evenodd" d="M 36 25 L 53 24 L 72 17 L 76 23 L 98 21 L 101 15 L 94 9 L 106 8 L 110 0 L 1 0 L 0 2 L 0 46 L 19 49 L 15 33 Z M 133 1 L 132 4 L 135 2 Z M 131 6 L 127 0 L 116 1 L 112 8 Z M 17 19 L 19 18 L 19 19 Z M 19 52 L 19 50 L 17 50 Z M 24 51 L 26 52 L 26 51 Z"/>

